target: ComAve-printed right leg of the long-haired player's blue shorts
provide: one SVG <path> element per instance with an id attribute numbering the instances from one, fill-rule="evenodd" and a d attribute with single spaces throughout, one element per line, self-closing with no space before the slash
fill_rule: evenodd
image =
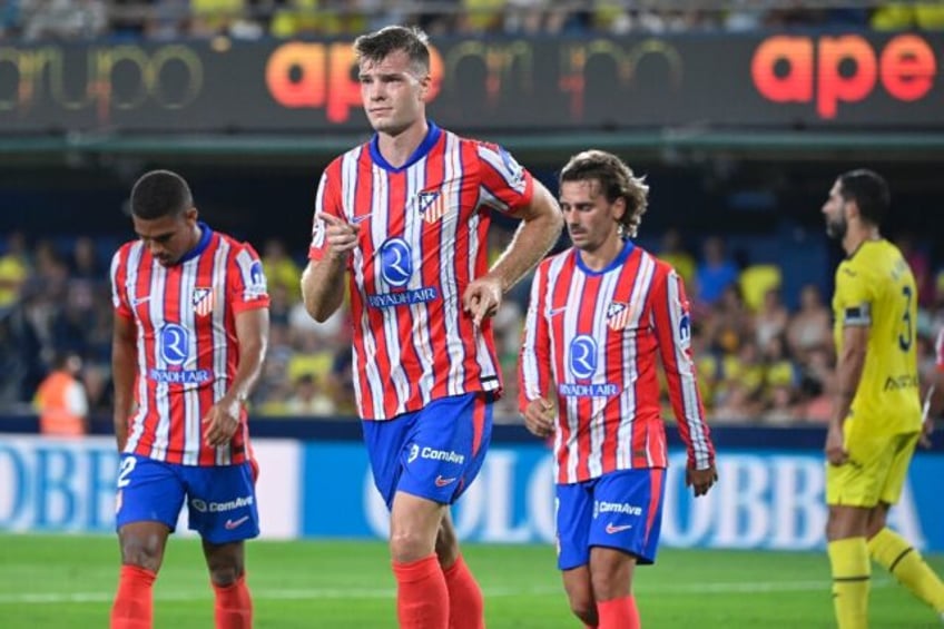
<path id="1" fill-rule="evenodd" d="M 662 529 L 665 480 L 666 471 L 659 468 L 600 476 L 593 489 L 596 518 L 590 524 L 590 546 L 632 554 L 639 563 L 655 562 Z"/>

